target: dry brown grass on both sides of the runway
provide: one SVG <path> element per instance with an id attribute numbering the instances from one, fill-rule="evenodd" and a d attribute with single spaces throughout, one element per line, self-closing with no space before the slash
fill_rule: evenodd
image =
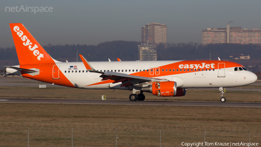
<path id="1" fill-rule="evenodd" d="M 68 87 L 0 87 L 0 98 L 101 99 L 106 95 L 108 100 L 129 101 L 131 93 Z M 220 101 L 218 90 L 188 89 L 186 96 L 174 98 L 144 94 L 146 101 Z M 227 91 L 224 96 L 227 102 L 260 103 L 260 94 Z M 26 126 L 31 128 L 30 146 L 71 146 L 71 128 L 75 129 L 74 146 L 115 146 L 115 128 L 119 128 L 117 146 L 159 146 L 160 129 L 162 146 L 181 146 L 182 142 L 204 142 L 205 127 L 207 142 L 249 142 L 248 132 L 254 131 L 251 142 L 261 144 L 261 108 L 30 103 L 0 103 L 0 108 L 0 146 L 27 146 Z M 64 124 L 69 129 L 57 131 Z M 83 124 L 98 129 L 88 130 L 87 125 L 86 131 L 80 130 Z M 102 125 L 110 129 L 99 129 Z M 39 126 L 50 129 L 34 130 Z M 135 130 L 137 126 L 141 129 Z M 146 131 L 150 126 L 155 129 Z M 179 128 L 175 130 L 175 126 Z M 167 127 L 174 127 L 175 131 L 166 131 Z"/>

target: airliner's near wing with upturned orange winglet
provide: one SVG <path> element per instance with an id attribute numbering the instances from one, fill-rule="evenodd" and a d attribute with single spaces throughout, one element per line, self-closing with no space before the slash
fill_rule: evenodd
<path id="1" fill-rule="evenodd" d="M 148 78 L 148 77 L 142 77 L 142 76 L 133 76 L 133 75 L 128 75 L 125 73 L 117 73 L 117 72 L 113 72 L 113 71 L 97 71 L 95 70 L 90 63 L 82 56 L 80 55 L 82 62 L 84 63 L 84 66 L 86 67 L 86 69 L 89 72 L 95 72 L 95 73 L 101 73 L 102 75 L 100 77 L 102 77 L 102 81 L 104 80 L 114 80 L 113 83 L 119 83 L 122 82 L 122 86 L 128 86 L 128 85 L 136 85 L 138 83 L 143 83 L 143 82 L 148 82 L 148 81 L 152 81 L 152 82 L 156 82 L 156 81 L 167 81 L 164 79 L 155 79 L 155 78 Z M 127 84 L 127 85 L 126 85 Z"/>

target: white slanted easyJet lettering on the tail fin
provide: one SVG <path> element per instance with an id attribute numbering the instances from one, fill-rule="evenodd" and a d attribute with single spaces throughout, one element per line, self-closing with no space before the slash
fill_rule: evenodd
<path id="1" fill-rule="evenodd" d="M 38 46 L 35 44 L 33 47 L 32 42 L 30 42 L 30 40 L 28 39 L 28 37 L 26 35 L 23 35 L 23 31 L 20 30 L 20 28 L 18 26 L 14 26 L 14 31 L 17 32 L 17 35 L 21 38 L 21 40 L 23 41 L 23 45 L 24 46 L 28 46 L 28 49 L 30 49 L 30 51 L 33 51 L 33 54 L 35 56 L 37 56 L 38 60 L 41 60 L 41 58 L 44 58 L 44 54 L 41 54 L 37 48 Z"/>

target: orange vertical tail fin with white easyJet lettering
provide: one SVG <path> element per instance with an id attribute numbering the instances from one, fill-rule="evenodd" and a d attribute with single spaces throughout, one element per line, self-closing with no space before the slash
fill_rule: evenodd
<path id="1" fill-rule="evenodd" d="M 14 45 L 20 64 L 55 63 L 23 24 L 10 24 Z"/>

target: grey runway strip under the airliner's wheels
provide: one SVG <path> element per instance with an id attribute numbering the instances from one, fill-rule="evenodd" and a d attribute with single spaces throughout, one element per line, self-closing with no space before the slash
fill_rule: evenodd
<path id="1" fill-rule="evenodd" d="M 60 103 L 60 104 L 113 104 L 113 105 L 175 105 L 175 106 L 220 106 L 261 107 L 261 103 L 179 102 L 179 101 L 116 101 L 116 100 L 68 100 L 68 99 L 22 99 L 0 98 L 0 103 Z"/>

